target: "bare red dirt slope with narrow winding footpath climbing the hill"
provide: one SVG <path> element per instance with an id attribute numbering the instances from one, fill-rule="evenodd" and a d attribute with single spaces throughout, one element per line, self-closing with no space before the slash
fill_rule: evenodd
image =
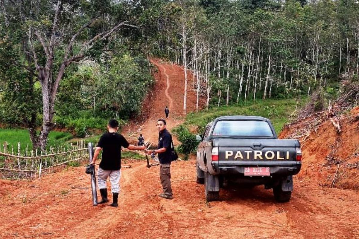
<path id="1" fill-rule="evenodd" d="M 155 66 L 152 72 L 155 78 L 153 89 L 146 96 L 142 107 L 141 116 L 132 120 L 125 126 L 122 134 L 131 142 L 136 143 L 139 134 L 142 134 L 146 141 L 157 144 L 158 132 L 156 128 L 157 119 L 164 118 L 164 108 L 168 106 L 169 118 L 167 119 L 167 129 L 171 131 L 174 126 L 183 122 L 183 95 L 185 74 L 183 67 L 171 62 L 162 61 L 157 58 L 150 58 L 150 62 Z M 196 90 L 194 77 L 191 71 L 187 71 L 187 107 L 186 111 L 196 110 Z M 200 98 L 199 108 L 204 105 L 205 99 Z M 174 144 L 178 141 L 174 138 Z"/>

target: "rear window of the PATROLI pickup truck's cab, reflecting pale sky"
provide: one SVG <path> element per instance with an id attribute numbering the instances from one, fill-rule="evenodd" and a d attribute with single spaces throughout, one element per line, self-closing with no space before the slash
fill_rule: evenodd
<path id="1" fill-rule="evenodd" d="M 212 136 L 273 137 L 266 121 L 228 120 L 218 121 Z"/>

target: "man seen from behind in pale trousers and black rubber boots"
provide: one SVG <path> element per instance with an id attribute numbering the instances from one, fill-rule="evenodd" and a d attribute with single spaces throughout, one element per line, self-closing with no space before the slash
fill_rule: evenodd
<path id="1" fill-rule="evenodd" d="M 98 188 L 100 189 L 102 197 L 99 204 L 108 202 L 106 181 L 109 177 L 111 182 L 111 192 L 113 195 L 113 203 L 110 205 L 117 207 L 118 193 L 120 192 L 121 147 L 132 150 L 145 150 L 146 147 L 129 144 L 125 137 L 117 133 L 118 122 L 115 119 L 108 122 L 107 129 L 108 132 L 104 133 L 98 142 L 91 164 L 95 164 L 98 154 L 101 150 L 103 150 L 102 160 L 97 171 Z"/>

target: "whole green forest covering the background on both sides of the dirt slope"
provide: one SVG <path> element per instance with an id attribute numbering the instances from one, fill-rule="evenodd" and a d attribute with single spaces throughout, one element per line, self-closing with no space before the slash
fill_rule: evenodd
<path id="1" fill-rule="evenodd" d="M 56 127 L 124 124 L 153 86 L 149 57 L 183 66 L 184 114 L 188 84 L 197 110 L 336 94 L 358 81 L 358 16 L 355 0 L 0 0 L 0 124 L 38 148 Z"/>

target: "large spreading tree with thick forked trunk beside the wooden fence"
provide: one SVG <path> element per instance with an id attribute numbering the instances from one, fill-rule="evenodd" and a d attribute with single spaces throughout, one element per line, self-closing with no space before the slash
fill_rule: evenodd
<path id="1" fill-rule="evenodd" d="M 134 28 L 126 5 L 117 1 L 1 1 L 4 42 L 16 51 L 12 64 L 26 69 L 29 88 L 38 81 L 42 94 L 42 127 L 27 124 L 33 146 L 44 149 L 54 128 L 57 90 L 66 69 L 88 56 L 101 56 L 111 35 L 120 28 Z M 6 70 L 6 69 L 5 69 Z M 11 71 L 6 70 L 9 76 Z M 33 115 L 32 115 L 33 116 Z"/>

